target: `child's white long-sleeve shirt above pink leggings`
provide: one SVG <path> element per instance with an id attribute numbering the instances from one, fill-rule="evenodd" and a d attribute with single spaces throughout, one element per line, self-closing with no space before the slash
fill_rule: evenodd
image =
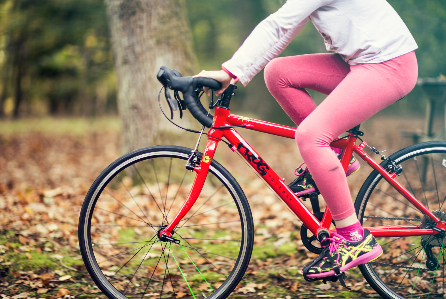
<path id="1" fill-rule="evenodd" d="M 261 21 L 222 66 L 246 86 L 310 20 L 327 51 L 352 65 L 384 62 L 418 48 L 386 0 L 288 0 Z"/>

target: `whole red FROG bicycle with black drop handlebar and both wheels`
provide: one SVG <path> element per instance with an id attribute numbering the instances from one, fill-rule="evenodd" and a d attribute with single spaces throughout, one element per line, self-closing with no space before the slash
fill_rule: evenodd
<path id="1" fill-rule="evenodd" d="M 188 130 L 200 138 L 206 134 L 206 146 L 198 152 L 198 138 L 194 150 L 173 145 L 135 150 L 111 163 L 95 180 L 79 218 L 79 245 L 99 289 L 113 299 L 198 295 L 224 299 L 234 291 L 251 258 L 254 228 L 243 190 L 213 159 L 220 141 L 238 151 L 302 221 L 301 241 L 311 252 L 320 253 L 318 240 L 334 231 L 328 208 L 320 211 L 317 193 L 295 195 L 236 128 L 292 139 L 296 129 L 231 114 L 235 85 L 211 102 L 212 116 L 202 106 L 199 91 L 203 86 L 216 90 L 220 83 L 181 77 L 165 66 L 158 79 L 169 106 L 189 108 L 203 125 L 201 132 Z M 174 90 L 174 99 L 168 88 Z M 205 126 L 210 128 L 207 133 Z M 362 136 L 358 125 L 331 143 L 343 150 L 344 170 L 352 153 L 373 169 L 355 208 L 384 254 L 359 269 L 383 298 L 443 297 L 446 142 L 423 142 L 386 157 Z M 375 162 L 367 148 L 383 161 Z M 313 211 L 302 202 L 306 199 Z"/>

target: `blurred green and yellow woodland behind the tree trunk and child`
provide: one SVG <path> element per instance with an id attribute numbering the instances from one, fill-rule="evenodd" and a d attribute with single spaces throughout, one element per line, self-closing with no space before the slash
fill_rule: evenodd
<path id="1" fill-rule="evenodd" d="M 446 1 L 388 2 L 420 47 L 416 51 L 419 76 L 446 74 Z M 186 0 L 199 69 L 219 69 L 256 24 L 283 3 Z M 282 55 L 324 52 L 322 37 L 309 23 Z M 0 0 L 2 117 L 116 114 L 112 62 L 103 0 Z M 311 94 L 317 103 L 324 98 L 316 92 Z M 264 86 L 262 74 L 247 87 L 239 86 L 233 103 L 234 112 L 293 125 Z M 381 113 L 421 113 L 424 103 L 416 87 L 405 100 Z"/>

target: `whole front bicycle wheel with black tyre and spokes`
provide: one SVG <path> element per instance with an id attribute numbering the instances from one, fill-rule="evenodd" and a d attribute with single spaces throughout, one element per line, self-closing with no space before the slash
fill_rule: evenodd
<path id="1" fill-rule="evenodd" d="M 251 210 L 239 184 L 215 160 L 196 203 L 174 230 L 181 246 L 157 237 L 189 193 L 195 177 L 185 168 L 190 153 L 171 145 L 135 150 L 111 163 L 88 191 L 79 245 L 108 298 L 224 299 L 243 278 L 254 239 Z"/>

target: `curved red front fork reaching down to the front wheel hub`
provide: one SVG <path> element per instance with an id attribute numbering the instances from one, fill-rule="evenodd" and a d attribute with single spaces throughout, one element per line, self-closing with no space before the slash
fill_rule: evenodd
<path id="1" fill-rule="evenodd" d="M 187 212 L 189 212 L 190 208 L 192 208 L 194 203 L 197 201 L 198 195 L 200 195 L 204 185 L 204 181 L 206 180 L 207 172 L 209 170 L 209 166 L 211 165 L 212 158 L 214 158 L 215 150 L 217 149 L 218 143 L 218 139 L 215 139 L 213 137 L 207 138 L 200 165 L 194 166 L 194 169 L 190 170 L 195 171 L 197 175 L 195 176 L 194 183 L 192 184 L 189 195 L 187 195 L 187 198 L 178 211 L 177 215 L 175 215 L 175 217 L 167 225 L 167 227 L 158 234 L 161 241 L 173 241 L 171 240 L 172 234 L 174 232 L 173 229 L 178 225 L 183 217 L 186 216 Z"/>

